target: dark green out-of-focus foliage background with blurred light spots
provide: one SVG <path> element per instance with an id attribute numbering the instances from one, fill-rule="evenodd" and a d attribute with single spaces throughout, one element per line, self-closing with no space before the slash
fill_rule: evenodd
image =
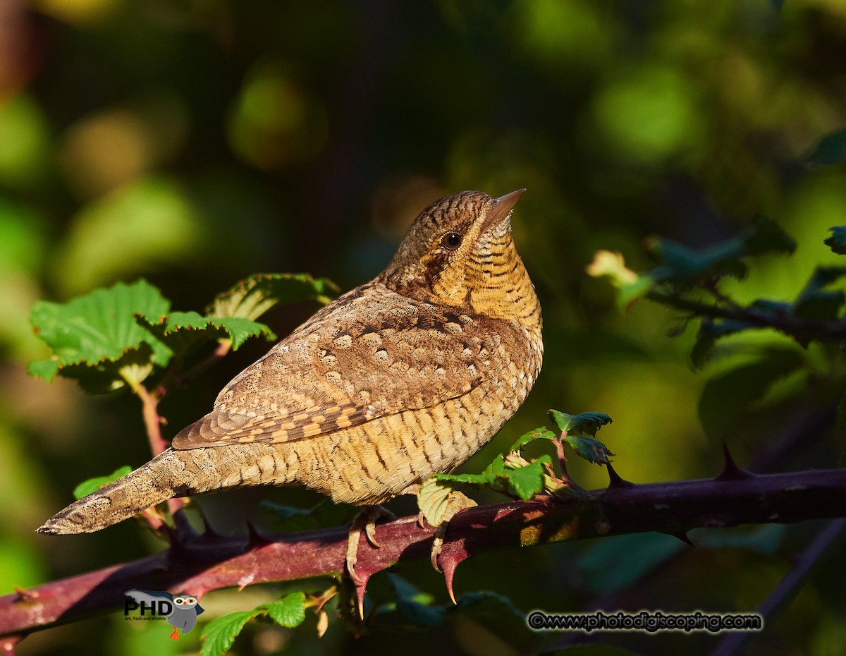
<path id="1" fill-rule="evenodd" d="M 731 403 L 719 394 L 703 410 L 708 382 L 755 349 L 794 347 L 765 332 L 694 372 L 691 329 L 671 339 L 672 313 L 618 311 L 585 267 L 606 248 L 642 270 L 647 235 L 711 245 L 761 212 L 799 251 L 756 263 L 730 291 L 793 298 L 817 262 L 836 261 L 821 240 L 846 223 L 837 148 L 814 156 L 846 126 L 844 64 L 843 0 L 0 3 L 0 593 L 162 547 L 133 522 L 92 536 L 33 533 L 77 482 L 149 455 L 129 394 L 27 377 L 27 361 L 46 356 L 28 322 L 34 301 L 143 276 L 176 309 L 201 310 L 258 271 L 307 271 L 349 289 L 381 271 L 426 203 L 458 190 L 528 189 L 514 233 L 547 348 L 530 400 L 466 471 L 546 422 L 550 407 L 613 416 L 601 437 L 634 482 L 717 473 L 719 439 L 756 471 L 833 466 L 843 439 L 830 430 L 827 351 L 811 349 L 808 367 L 751 415 L 735 403 L 723 416 Z M 266 321 L 286 334 L 314 309 Z M 170 394 L 168 434 L 264 350 L 247 345 Z M 574 477 L 588 488 L 607 480 L 578 463 Z M 233 515 L 261 526 L 258 499 L 227 494 L 204 507 L 243 530 Z M 462 565 L 456 586 L 494 590 L 525 612 L 748 612 L 818 530 L 700 531 L 695 550 L 644 535 L 492 553 Z M 750 653 L 843 653 L 843 565 L 835 549 Z M 448 601 L 425 563 L 397 572 Z M 371 587 L 376 601 L 389 598 L 387 583 Z M 203 619 L 282 589 L 211 593 Z M 333 621 L 317 640 L 310 616 L 298 631 L 252 627 L 235 653 L 517 654 L 574 639 L 532 636 L 502 611 L 489 620 L 456 615 L 358 638 Z M 197 633 L 172 644 L 162 625 L 115 613 L 38 633 L 19 653 L 195 653 Z M 717 644 L 702 634 L 602 641 L 639 653 Z"/>

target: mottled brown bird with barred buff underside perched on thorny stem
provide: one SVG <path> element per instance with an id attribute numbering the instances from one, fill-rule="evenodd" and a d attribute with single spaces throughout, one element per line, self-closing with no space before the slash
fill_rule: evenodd
<path id="1" fill-rule="evenodd" d="M 373 509 L 468 460 L 541 371 L 541 306 L 511 230 L 524 191 L 433 202 L 382 273 L 240 372 L 168 449 L 37 532 L 94 532 L 172 497 L 299 483 L 365 507 L 378 546 Z"/>

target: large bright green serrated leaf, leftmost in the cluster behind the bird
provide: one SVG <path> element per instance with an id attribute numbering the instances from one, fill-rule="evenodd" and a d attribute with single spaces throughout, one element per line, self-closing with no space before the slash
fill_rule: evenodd
<path id="1" fill-rule="evenodd" d="M 39 338 L 52 350 L 47 361 L 30 363 L 34 376 L 52 380 L 58 372 L 93 391 L 118 389 L 126 383 L 122 369 L 135 366 L 140 383 L 153 365 L 164 366 L 173 350 L 150 329 L 135 321 L 135 314 L 162 317 L 170 301 L 158 289 L 140 279 L 96 289 L 67 303 L 38 301 L 30 322 Z"/>

